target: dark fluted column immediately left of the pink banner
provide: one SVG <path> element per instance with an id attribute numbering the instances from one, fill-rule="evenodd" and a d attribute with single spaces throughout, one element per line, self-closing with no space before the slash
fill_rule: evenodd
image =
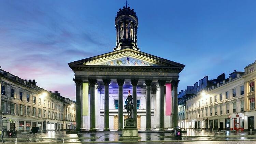
<path id="1" fill-rule="evenodd" d="M 158 84 L 160 86 L 160 98 L 159 98 L 159 129 L 165 129 L 165 86 L 166 80 L 158 80 Z"/>

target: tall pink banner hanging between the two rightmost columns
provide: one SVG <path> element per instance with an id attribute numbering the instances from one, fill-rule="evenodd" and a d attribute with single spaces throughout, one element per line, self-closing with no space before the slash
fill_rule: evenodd
<path id="1" fill-rule="evenodd" d="M 172 88 L 171 84 L 167 83 L 165 85 L 165 115 L 171 115 L 172 112 Z"/>

